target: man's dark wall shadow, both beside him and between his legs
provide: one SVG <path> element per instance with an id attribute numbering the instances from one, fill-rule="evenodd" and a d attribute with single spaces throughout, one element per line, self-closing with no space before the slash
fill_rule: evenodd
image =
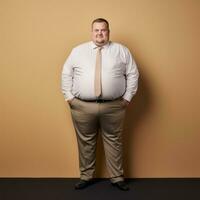
<path id="1" fill-rule="evenodd" d="M 151 89 L 149 88 L 150 84 L 148 84 L 145 74 L 141 71 L 141 66 L 138 67 L 140 72 L 138 91 L 126 111 L 124 122 L 123 143 L 125 177 L 130 177 L 134 171 L 133 153 L 130 149 L 134 145 L 134 137 L 136 137 L 135 130 L 137 126 L 142 123 L 145 114 L 148 113 L 153 104 L 153 97 Z M 141 68 L 144 69 L 143 67 Z M 104 168 L 106 168 L 104 147 L 100 136 L 101 134 L 99 134 L 97 145 L 96 177 L 104 176 Z M 106 172 L 107 171 L 106 168 Z"/>

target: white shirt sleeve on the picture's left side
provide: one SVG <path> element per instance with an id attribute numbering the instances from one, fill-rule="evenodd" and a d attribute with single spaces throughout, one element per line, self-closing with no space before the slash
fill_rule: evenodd
<path id="1" fill-rule="evenodd" d="M 74 95 L 72 94 L 73 65 L 74 65 L 73 60 L 74 60 L 74 51 L 72 50 L 70 55 L 66 59 L 62 70 L 61 88 L 65 101 L 74 98 Z"/>

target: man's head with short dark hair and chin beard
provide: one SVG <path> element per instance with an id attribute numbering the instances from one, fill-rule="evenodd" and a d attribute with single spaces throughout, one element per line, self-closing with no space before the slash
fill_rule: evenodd
<path id="1" fill-rule="evenodd" d="M 92 22 L 92 41 L 97 46 L 103 46 L 109 42 L 109 23 L 103 18 L 95 19 Z"/>

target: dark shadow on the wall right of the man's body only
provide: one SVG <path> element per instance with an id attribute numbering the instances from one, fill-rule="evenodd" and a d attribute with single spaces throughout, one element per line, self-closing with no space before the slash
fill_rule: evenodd
<path id="1" fill-rule="evenodd" d="M 143 67 L 142 67 L 143 68 Z M 144 68 L 143 68 L 144 69 Z M 153 95 L 147 77 L 140 70 L 140 79 L 137 95 L 133 99 L 130 108 L 126 113 L 124 123 L 124 170 L 125 176 L 130 177 L 134 174 L 134 155 L 133 148 L 138 142 L 136 130 L 140 123 L 144 123 L 145 115 L 150 112 L 153 106 Z M 137 134 L 140 134 L 137 132 Z M 142 142 L 142 141 L 141 141 Z M 133 147 L 133 148 L 132 148 Z"/>

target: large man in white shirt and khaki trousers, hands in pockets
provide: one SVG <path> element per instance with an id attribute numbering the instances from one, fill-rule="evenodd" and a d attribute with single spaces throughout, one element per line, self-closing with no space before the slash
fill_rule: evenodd
<path id="1" fill-rule="evenodd" d="M 98 130 L 112 185 L 129 189 L 122 166 L 122 130 L 139 73 L 128 48 L 111 42 L 109 34 L 108 21 L 95 19 L 92 41 L 73 48 L 63 66 L 62 92 L 71 109 L 79 149 L 80 181 L 75 189 L 93 181 Z"/>

